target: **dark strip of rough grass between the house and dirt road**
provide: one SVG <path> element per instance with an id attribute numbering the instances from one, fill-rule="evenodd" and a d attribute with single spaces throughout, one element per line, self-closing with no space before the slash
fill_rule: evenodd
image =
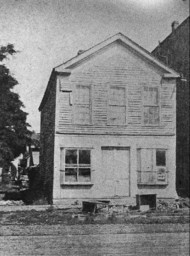
<path id="1" fill-rule="evenodd" d="M 165 215 L 166 216 L 166 215 Z M 11 213 L 0 213 L 0 219 L 3 219 L 3 225 L 56 225 L 56 224 L 186 224 L 190 218 L 186 213 L 179 216 L 171 215 L 170 218 L 164 216 L 130 216 L 129 214 L 79 214 L 68 213 L 54 209 L 53 206 L 46 211 L 17 211 Z"/>

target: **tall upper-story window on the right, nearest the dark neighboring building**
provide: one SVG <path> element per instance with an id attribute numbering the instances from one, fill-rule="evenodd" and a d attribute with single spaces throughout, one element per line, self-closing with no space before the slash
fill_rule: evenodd
<path id="1" fill-rule="evenodd" d="M 159 89 L 156 86 L 143 87 L 143 123 L 159 125 Z"/>

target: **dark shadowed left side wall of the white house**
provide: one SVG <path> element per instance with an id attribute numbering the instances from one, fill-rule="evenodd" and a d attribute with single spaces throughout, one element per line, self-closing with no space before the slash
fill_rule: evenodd
<path id="1" fill-rule="evenodd" d="M 40 123 L 40 175 L 43 194 L 49 203 L 53 199 L 56 86 L 56 78 L 53 78 L 49 97 L 41 110 Z"/>

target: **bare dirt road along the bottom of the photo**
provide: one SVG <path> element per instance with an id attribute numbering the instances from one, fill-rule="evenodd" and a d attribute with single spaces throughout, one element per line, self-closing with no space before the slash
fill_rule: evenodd
<path id="1" fill-rule="evenodd" d="M 0 236 L 0 256 L 186 256 L 189 233 Z"/>

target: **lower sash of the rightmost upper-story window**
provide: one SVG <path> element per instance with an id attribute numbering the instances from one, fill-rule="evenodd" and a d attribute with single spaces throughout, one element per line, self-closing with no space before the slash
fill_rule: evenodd
<path id="1" fill-rule="evenodd" d="M 159 107 L 144 107 L 144 124 L 159 125 Z"/>

